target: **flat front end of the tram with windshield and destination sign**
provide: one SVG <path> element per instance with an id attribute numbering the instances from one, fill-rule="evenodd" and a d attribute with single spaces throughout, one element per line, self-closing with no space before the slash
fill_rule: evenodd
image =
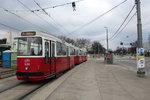
<path id="1" fill-rule="evenodd" d="M 44 80 L 42 37 L 35 32 L 22 32 L 17 37 L 17 78 L 19 80 Z"/>

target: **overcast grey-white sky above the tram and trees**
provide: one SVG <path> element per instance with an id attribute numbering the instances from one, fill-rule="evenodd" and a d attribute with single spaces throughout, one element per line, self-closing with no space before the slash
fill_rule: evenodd
<path id="1" fill-rule="evenodd" d="M 0 24 L 5 24 L 17 29 L 12 29 L 14 36 L 20 34 L 18 30 L 40 30 L 54 35 L 65 35 L 73 39 L 86 38 L 91 41 L 96 40 L 104 47 L 106 47 L 106 29 L 104 27 L 108 27 L 109 38 L 112 37 L 135 4 L 135 0 L 127 0 L 103 17 L 87 24 L 124 0 L 83 0 L 76 2 L 76 11 L 73 11 L 72 5 L 68 4 L 74 0 L 35 1 L 42 8 L 61 4 L 67 5 L 46 9 L 45 11 L 48 13 L 48 16 L 41 10 L 32 13 L 26 8 L 28 7 L 31 10 L 40 9 L 34 0 L 0 0 Z M 4 9 L 9 12 L 4 11 Z M 149 10 L 149 0 L 141 0 L 144 42 L 148 41 L 148 35 L 150 34 Z M 136 10 L 134 8 L 128 20 L 135 12 Z M 83 25 L 85 25 L 85 27 L 83 27 Z M 134 42 L 137 39 L 136 26 L 137 21 L 135 15 L 121 33 L 115 36 L 113 40 L 109 40 L 109 47 L 115 49 L 119 46 L 120 42 L 124 42 L 126 46 L 128 46 L 130 42 Z M 0 25 L 0 38 L 7 36 L 7 30 L 8 27 Z"/>

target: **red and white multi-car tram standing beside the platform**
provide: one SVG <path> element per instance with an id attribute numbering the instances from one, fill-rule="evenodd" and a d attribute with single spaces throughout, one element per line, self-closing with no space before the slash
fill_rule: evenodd
<path id="1" fill-rule="evenodd" d="M 40 81 L 87 60 L 86 51 L 39 31 L 24 31 L 17 39 L 17 78 Z"/>

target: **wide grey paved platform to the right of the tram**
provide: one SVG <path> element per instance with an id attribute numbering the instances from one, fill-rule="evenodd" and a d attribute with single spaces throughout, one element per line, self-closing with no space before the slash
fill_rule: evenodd
<path id="1" fill-rule="evenodd" d="M 149 100 L 149 76 L 139 78 L 122 66 L 94 59 L 72 70 L 46 100 Z"/>

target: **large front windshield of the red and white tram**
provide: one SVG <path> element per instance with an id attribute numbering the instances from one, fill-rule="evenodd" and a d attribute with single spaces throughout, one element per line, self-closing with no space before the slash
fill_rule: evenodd
<path id="1" fill-rule="evenodd" d="M 18 56 L 41 56 L 42 38 L 21 37 L 18 38 Z"/>

